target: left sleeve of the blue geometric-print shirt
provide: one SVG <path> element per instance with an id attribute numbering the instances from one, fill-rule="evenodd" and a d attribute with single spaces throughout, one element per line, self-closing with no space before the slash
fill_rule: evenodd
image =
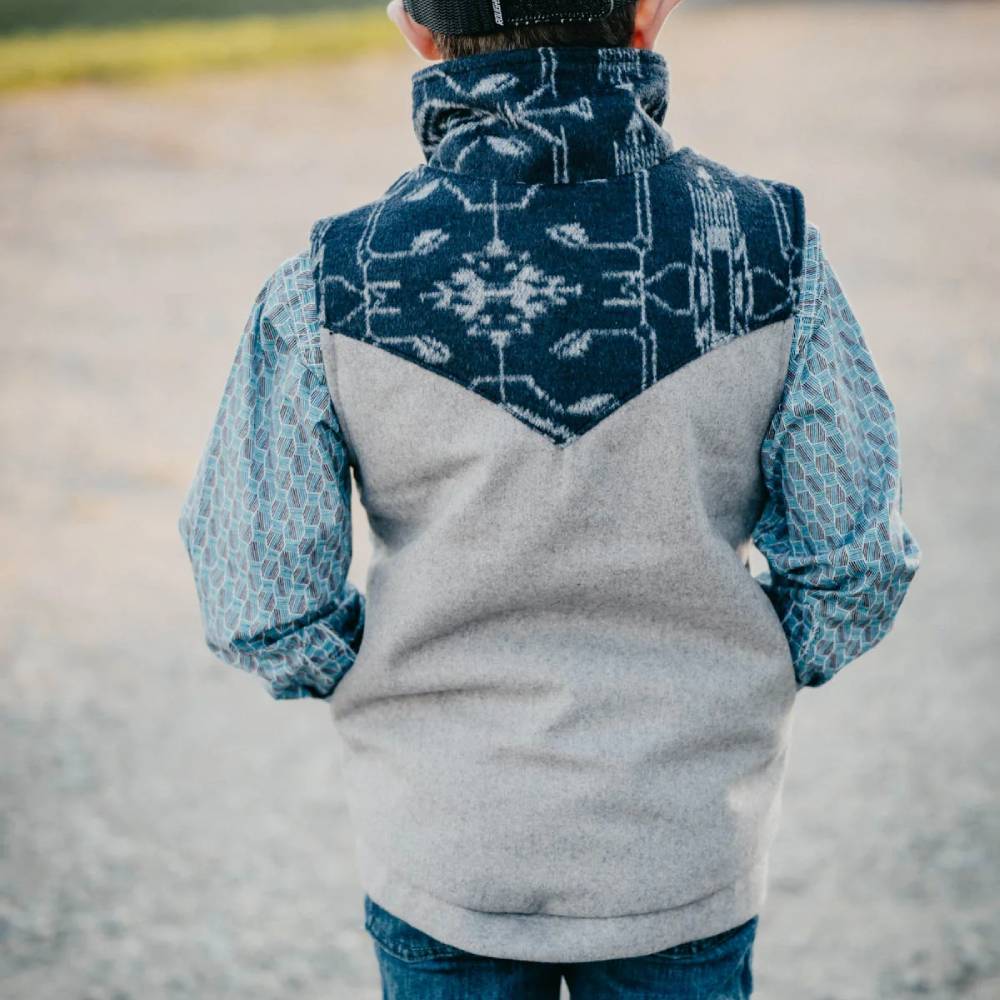
<path id="1" fill-rule="evenodd" d="M 303 254 L 254 303 L 178 521 L 209 649 L 276 699 L 329 698 L 364 630 L 319 332 Z"/>

